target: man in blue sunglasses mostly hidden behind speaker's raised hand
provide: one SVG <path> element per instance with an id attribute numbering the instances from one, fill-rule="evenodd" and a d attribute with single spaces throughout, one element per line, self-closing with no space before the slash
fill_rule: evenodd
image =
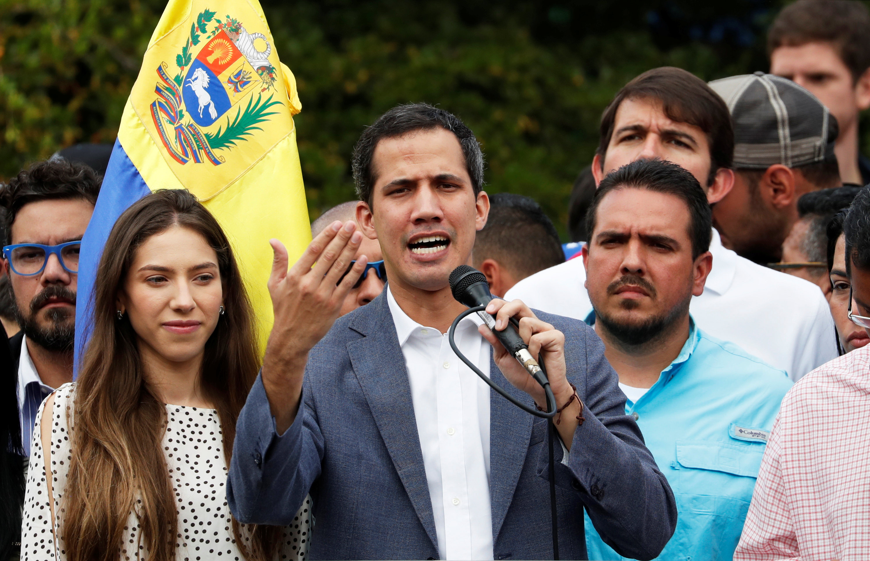
<path id="1" fill-rule="evenodd" d="M 317 220 L 311 223 L 311 237 L 318 237 L 318 234 L 324 228 L 336 220 L 347 222 L 348 220 L 357 219 L 357 204 L 359 201 L 348 201 L 347 203 L 338 204 L 331 209 L 326 210 Z M 342 304 L 339 316 L 344 316 L 351 311 L 356 310 L 360 306 L 365 306 L 372 300 L 378 297 L 384 291 L 386 284 L 386 270 L 384 268 L 384 257 L 381 257 L 380 244 L 378 240 L 363 237 L 363 241 L 359 244 L 359 249 L 356 255 L 353 256 L 354 261 L 347 270 L 356 263 L 356 259 L 365 255 L 368 257 L 368 263 L 365 265 L 363 274 L 359 277 L 357 284 L 348 292 L 345 297 L 345 304 Z M 346 273 L 345 273 L 346 274 Z M 342 277 L 344 278 L 344 277 Z M 338 281 L 341 282 L 340 280 Z"/>

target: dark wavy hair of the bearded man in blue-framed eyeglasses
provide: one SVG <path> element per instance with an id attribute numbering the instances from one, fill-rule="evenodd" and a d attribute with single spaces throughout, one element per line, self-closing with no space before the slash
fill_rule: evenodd
<path id="1" fill-rule="evenodd" d="M 50 199 L 81 198 L 97 204 L 103 177 L 85 164 L 53 158 L 33 164 L 0 189 L 0 206 L 5 210 L 3 244 L 12 243 L 12 224 L 25 204 Z"/>

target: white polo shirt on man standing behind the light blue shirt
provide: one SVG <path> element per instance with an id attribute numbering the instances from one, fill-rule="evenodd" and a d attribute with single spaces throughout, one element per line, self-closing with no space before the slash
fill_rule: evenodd
<path id="1" fill-rule="evenodd" d="M 837 357 L 833 318 L 819 287 L 726 249 L 713 230 L 713 270 L 692 298 L 696 324 L 797 381 Z M 592 311 L 583 258 L 541 270 L 507 291 L 530 308 L 585 320 Z"/>

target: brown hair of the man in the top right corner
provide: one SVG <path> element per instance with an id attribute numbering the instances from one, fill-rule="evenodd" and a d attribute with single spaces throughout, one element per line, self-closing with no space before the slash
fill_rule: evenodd
<path id="1" fill-rule="evenodd" d="M 852 0 L 800 0 L 786 6 L 767 32 L 767 52 L 806 43 L 832 43 L 853 82 L 870 67 L 870 12 Z"/>

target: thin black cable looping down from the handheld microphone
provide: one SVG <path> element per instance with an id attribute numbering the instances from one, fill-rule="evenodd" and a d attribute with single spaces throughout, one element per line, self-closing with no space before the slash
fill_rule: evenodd
<path id="1" fill-rule="evenodd" d="M 534 377 L 535 381 L 538 382 L 542 388 L 544 388 L 544 394 L 546 397 L 547 411 L 538 411 L 537 409 L 533 409 L 528 405 L 519 401 L 512 395 L 508 394 L 505 390 L 503 390 L 499 384 L 490 379 L 490 377 L 486 376 L 477 365 L 473 364 L 461 351 L 459 351 L 458 346 L 456 345 L 456 340 L 454 339 L 454 332 L 456 331 L 456 326 L 460 321 L 465 319 L 465 317 L 472 315 L 473 313 L 482 312 L 486 310 L 486 306 L 474 306 L 469 308 L 468 310 L 463 311 L 459 314 L 456 319 L 453 320 L 453 323 L 450 326 L 450 329 L 447 330 L 447 342 L 450 343 L 450 348 L 456 353 L 456 356 L 459 357 L 459 360 L 465 363 L 465 366 L 468 366 L 472 369 L 472 372 L 478 375 L 481 380 L 483 380 L 489 387 L 493 390 L 499 392 L 501 397 L 504 397 L 512 404 L 519 407 L 521 410 L 526 413 L 531 413 L 535 417 L 542 417 L 547 419 L 547 448 L 549 449 L 549 457 L 550 457 L 550 465 L 547 470 L 547 475 L 550 479 L 550 518 L 552 519 L 552 558 L 558 560 L 559 559 L 559 521 L 557 518 L 556 511 L 556 464 L 555 464 L 555 452 L 554 447 L 556 445 L 556 425 L 553 424 L 552 418 L 556 416 L 557 406 L 556 406 L 556 397 L 552 395 L 552 389 L 550 388 L 550 382 L 547 380 L 546 368 L 544 366 L 544 361 L 539 360 L 538 364 L 540 366 L 541 372 L 543 372 L 543 380 L 541 377 Z M 512 323 L 515 323 L 513 319 Z"/>

